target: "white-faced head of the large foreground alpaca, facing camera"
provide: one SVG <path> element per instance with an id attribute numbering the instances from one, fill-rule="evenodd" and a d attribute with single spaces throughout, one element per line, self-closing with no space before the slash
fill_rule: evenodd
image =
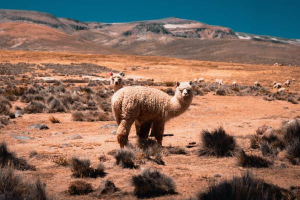
<path id="1" fill-rule="evenodd" d="M 191 99 L 193 96 L 191 84 L 191 80 L 188 82 L 176 82 L 175 97 L 180 101 Z"/>

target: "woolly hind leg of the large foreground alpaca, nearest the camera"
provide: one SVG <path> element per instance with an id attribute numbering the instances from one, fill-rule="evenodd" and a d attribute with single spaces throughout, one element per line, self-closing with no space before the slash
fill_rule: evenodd
<path id="1" fill-rule="evenodd" d="M 117 127 L 116 138 L 121 148 L 128 143 L 128 134 L 133 121 L 134 120 L 123 119 Z"/>

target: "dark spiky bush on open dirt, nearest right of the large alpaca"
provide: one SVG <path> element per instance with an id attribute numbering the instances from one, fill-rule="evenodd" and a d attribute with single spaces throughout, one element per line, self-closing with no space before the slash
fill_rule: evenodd
<path id="1" fill-rule="evenodd" d="M 202 130 L 201 144 L 198 154 L 205 156 L 233 156 L 237 149 L 237 144 L 232 135 L 225 132 L 222 126 L 212 131 Z"/>

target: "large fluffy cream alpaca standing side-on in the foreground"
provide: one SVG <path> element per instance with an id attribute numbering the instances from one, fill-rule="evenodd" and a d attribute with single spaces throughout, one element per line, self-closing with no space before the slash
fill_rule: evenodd
<path id="1" fill-rule="evenodd" d="M 176 91 L 172 98 L 161 90 L 143 86 L 129 86 L 116 91 L 111 98 L 111 107 L 118 124 L 116 133 L 120 147 L 127 144 L 134 121 L 139 124 L 152 121 L 152 131 L 157 142 L 161 144 L 165 122 L 182 114 L 189 107 L 193 97 L 191 84 L 191 80 L 176 82 Z"/>

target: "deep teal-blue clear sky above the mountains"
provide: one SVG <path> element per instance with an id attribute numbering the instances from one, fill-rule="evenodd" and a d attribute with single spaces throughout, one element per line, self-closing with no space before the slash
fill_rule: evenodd
<path id="1" fill-rule="evenodd" d="M 81 21 L 125 22 L 169 16 L 235 31 L 300 38 L 300 0 L 3 0 L 0 8 L 38 10 Z"/>

